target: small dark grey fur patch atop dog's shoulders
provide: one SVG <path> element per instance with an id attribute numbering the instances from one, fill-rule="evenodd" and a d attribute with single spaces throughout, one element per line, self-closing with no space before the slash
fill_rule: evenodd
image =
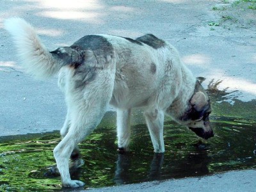
<path id="1" fill-rule="evenodd" d="M 164 47 L 164 45 L 166 45 L 163 40 L 157 38 L 152 34 L 140 36 L 139 38 L 136 38 L 136 40 L 139 42 L 143 42 L 144 44 L 147 44 L 150 47 L 153 47 L 154 49 L 159 49 L 161 47 Z"/>

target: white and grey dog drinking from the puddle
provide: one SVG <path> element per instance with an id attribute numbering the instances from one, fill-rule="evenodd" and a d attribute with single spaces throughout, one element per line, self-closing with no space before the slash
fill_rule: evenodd
<path id="1" fill-rule="evenodd" d="M 109 104 L 116 108 L 118 150 L 129 150 L 131 109 L 143 107 L 154 152 L 164 152 L 164 114 L 204 139 L 214 136 L 211 101 L 168 42 L 147 34 L 135 40 L 122 36 L 86 35 L 70 47 L 48 51 L 35 29 L 20 18 L 6 19 L 17 55 L 29 74 L 58 74 L 67 116 L 54 157 L 63 186 L 83 186 L 71 180 L 69 157 L 79 156 L 77 144 L 100 123 Z"/>

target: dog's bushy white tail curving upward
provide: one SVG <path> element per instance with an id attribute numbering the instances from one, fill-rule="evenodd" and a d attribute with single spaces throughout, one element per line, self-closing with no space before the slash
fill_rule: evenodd
<path id="1" fill-rule="evenodd" d="M 52 56 L 35 29 L 24 19 L 6 19 L 4 28 L 12 34 L 18 56 L 29 74 L 39 78 L 51 77 L 64 65 L 63 61 Z"/>

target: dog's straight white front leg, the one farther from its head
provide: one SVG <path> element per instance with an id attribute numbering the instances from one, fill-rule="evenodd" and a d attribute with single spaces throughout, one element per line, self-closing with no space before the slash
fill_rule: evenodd
<path id="1" fill-rule="evenodd" d="M 116 126 L 118 138 L 118 151 L 125 152 L 129 150 L 131 139 L 131 109 L 116 111 Z"/>

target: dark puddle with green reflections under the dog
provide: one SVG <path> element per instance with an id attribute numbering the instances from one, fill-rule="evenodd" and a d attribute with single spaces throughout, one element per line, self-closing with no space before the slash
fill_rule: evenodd
<path id="1" fill-rule="evenodd" d="M 153 152 L 146 125 L 137 123 L 132 126 L 131 152 L 118 154 L 111 112 L 111 123 L 100 124 L 79 145 L 83 162 L 71 170 L 72 178 L 86 182 L 85 188 L 100 188 L 256 168 L 256 101 L 236 100 L 236 92 L 220 91 L 218 81 L 213 82 L 208 90 L 214 138 L 200 140 L 166 119 L 166 152 L 159 155 Z M 59 141 L 58 132 L 0 138 L 0 191 L 60 191 L 52 155 Z"/>

